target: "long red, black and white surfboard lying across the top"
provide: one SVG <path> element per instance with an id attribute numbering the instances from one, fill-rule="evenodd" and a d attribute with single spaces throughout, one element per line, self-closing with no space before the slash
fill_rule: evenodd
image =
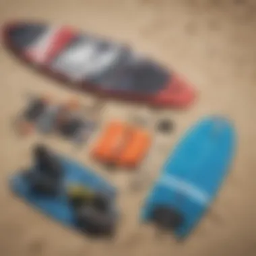
<path id="1" fill-rule="evenodd" d="M 195 91 L 128 46 L 83 34 L 68 26 L 11 22 L 3 26 L 11 51 L 73 88 L 155 106 L 189 106 Z"/>

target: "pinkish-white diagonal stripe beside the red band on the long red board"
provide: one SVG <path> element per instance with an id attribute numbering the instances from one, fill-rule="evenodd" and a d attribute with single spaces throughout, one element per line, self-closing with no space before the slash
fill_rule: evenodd
<path id="1" fill-rule="evenodd" d="M 46 30 L 46 32 L 34 42 L 32 48 L 29 50 L 33 54 L 34 61 L 37 63 L 43 63 L 45 61 L 47 53 L 51 49 L 55 36 L 60 29 L 60 26 L 49 28 L 49 30 Z"/>

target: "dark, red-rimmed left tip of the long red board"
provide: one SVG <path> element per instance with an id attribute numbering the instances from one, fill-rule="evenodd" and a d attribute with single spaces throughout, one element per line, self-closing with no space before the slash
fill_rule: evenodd
<path id="1" fill-rule="evenodd" d="M 32 44 L 46 29 L 42 24 L 8 22 L 2 28 L 2 35 L 6 44 L 22 50 Z"/>

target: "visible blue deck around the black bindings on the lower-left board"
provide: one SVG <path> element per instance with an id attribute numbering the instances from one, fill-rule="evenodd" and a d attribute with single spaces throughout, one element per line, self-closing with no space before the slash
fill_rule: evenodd
<path id="1" fill-rule="evenodd" d="M 11 191 L 13 191 L 15 195 L 18 195 L 18 197 L 25 199 L 26 202 L 40 210 L 43 214 L 58 220 L 65 226 L 75 228 L 73 211 L 69 205 L 69 201 L 65 193 L 65 187 L 70 184 L 84 185 L 89 189 L 100 191 L 105 195 L 108 195 L 113 202 L 113 218 L 117 218 L 118 211 L 115 207 L 117 190 L 115 187 L 81 164 L 64 158 L 63 156 L 59 157 L 64 171 L 64 189 L 63 192 L 60 193 L 61 195 L 49 199 L 30 193 L 29 184 L 24 180 L 22 172 L 18 172 L 18 174 L 11 177 L 9 182 Z M 33 168 L 31 169 L 32 171 L 34 170 Z"/>

